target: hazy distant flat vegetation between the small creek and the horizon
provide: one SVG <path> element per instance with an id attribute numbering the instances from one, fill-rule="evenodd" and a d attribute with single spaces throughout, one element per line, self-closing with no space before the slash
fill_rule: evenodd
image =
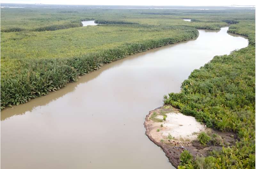
<path id="1" fill-rule="evenodd" d="M 64 7 L 64 8 L 63 8 Z M 1 31 L 29 30 L 42 27 L 82 26 L 80 21 L 102 23 L 138 23 L 148 25 L 187 25 L 196 28 L 219 29 L 226 20 L 253 20 L 253 10 L 157 10 L 157 9 L 97 9 L 93 6 L 47 6 L 47 8 L 2 8 Z M 181 18 L 200 20 L 186 22 Z M 72 27 L 73 27 L 72 26 Z M 17 29 L 16 29 L 17 28 Z M 53 29 L 54 30 L 54 29 Z"/>

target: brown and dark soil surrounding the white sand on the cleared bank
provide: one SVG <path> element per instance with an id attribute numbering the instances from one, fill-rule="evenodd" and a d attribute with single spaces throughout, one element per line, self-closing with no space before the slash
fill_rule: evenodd
<path id="1" fill-rule="evenodd" d="M 206 146 L 203 146 L 195 137 L 186 137 L 186 138 L 172 138 L 171 140 L 164 135 L 165 131 L 168 130 L 168 121 L 160 120 L 159 117 L 163 116 L 163 114 L 170 113 L 179 113 L 178 109 L 175 109 L 171 106 L 163 106 L 158 107 L 155 110 L 151 110 L 149 114 L 146 116 L 146 120 L 144 122 L 144 126 L 146 128 L 146 135 L 148 138 L 154 142 L 157 146 L 161 147 L 165 152 L 165 155 L 168 157 L 169 161 L 172 163 L 174 167 L 178 167 L 180 164 L 180 153 L 182 152 L 181 146 L 184 146 L 185 150 L 188 150 L 194 157 L 198 156 L 207 156 L 210 151 L 220 151 L 222 146 L 216 146 L 212 143 L 208 143 Z M 152 116 L 153 115 L 153 116 Z M 152 116 L 152 117 L 151 117 Z M 168 116 L 167 116 L 168 118 Z M 173 121 L 172 121 L 173 122 Z M 192 121 L 193 122 L 193 121 Z M 196 122 L 197 123 L 197 122 Z M 164 124 L 163 127 L 160 125 Z M 190 125 L 190 124 L 188 124 Z M 201 124 L 204 126 L 204 124 Z M 182 125 L 179 125 L 182 126 Z M 183 127 L 183 126 L 182 126 Z M 159 131 L 159 130 L 160 131 Z M 213 133 L 221 136 L 222 142 L 224 146 L 232 146 L 236 141 L 236 134 L 234 132 L 220 132 L 215 129 L 204 128 L 200 129 L 200 131 L 206 132 L 208 135 L 212 136 Z M 198 135 L 199 133 L 193 133 L 192 135 Z M 188 139 L 189 138 L 189 139 Z M 176 148 L 175 148 L 176 143 Z"/>

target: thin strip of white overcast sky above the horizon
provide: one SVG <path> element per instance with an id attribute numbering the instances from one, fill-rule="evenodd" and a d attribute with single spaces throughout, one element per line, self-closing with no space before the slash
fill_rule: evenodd
<path id="1" fill-rule="evenodd" d="M 226 6 L 255 5 L 255 0 L 2 0 L 1 3 L 18 4 L 70 4 L 70 5 L 183 5 L 183 6 Z"/>

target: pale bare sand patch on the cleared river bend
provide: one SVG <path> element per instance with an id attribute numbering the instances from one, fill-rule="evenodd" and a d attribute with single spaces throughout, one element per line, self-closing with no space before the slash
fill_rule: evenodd
<path id="1" fill-rule="evenodd" d="M 206 129 L 194 117 L 186 116 L 174 108 L 170 109 L 170 106 L 166 108 L 167 111 L 160 108 L 149 113 L 151 121 L 147 121 L 147 124 L 150 126 L 150 135 L 157 141 L 166 140 L 169 135 L 174 137 L 172 140 L 175 141 L 192 141 Z M 165 121 L 164 116 L 166 116 Z"/>

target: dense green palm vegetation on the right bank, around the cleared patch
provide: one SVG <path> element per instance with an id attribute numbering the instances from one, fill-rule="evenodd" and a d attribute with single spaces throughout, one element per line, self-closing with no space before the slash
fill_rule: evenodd
<path id="1" fill-rule="evenodd" d="M 192 115 L 207 127 L 238 134 L 235 145 L 213 151 L 211 156 L 182 163 L 179 168 L 255 167 L 255 23 L 239 21 L 229 32 L 248 36 L 249 46 L 230 55 L 215 56 L 194 70 L 181 85 L 180 93 L 164 99 L 185 115 Z M 215 136 L 214 136 L 215 137 Z M 218 136 L 213 143 L 221 144 Z M 206 167 L 207 168 L 207 167 Z"/>

